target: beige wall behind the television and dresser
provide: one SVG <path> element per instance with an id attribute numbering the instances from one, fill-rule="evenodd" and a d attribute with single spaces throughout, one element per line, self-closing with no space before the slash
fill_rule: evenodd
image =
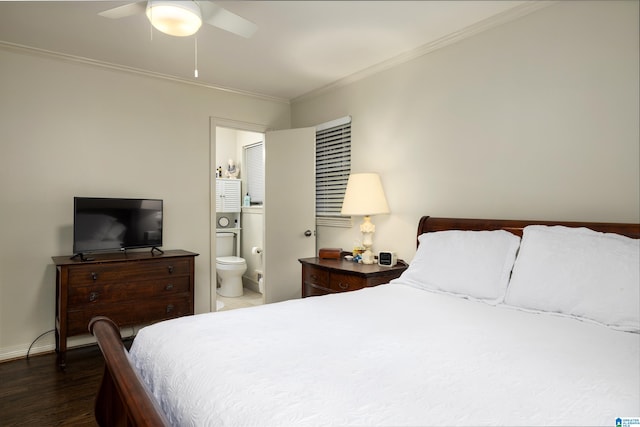
<path id="1" fill-rule="evenodd" d="M 0 64 L 0 359 L 54 327 L 51 256 L 71 254 L 73 196 L 164 199 L 164 247 L 200 253 L 208 311 L 209 118 L 286 128 L 288 103 L 22 51 Z"/>

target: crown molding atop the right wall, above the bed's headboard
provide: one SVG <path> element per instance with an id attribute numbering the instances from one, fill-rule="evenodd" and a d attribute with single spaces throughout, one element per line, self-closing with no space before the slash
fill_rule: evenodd
<path id="1" fill-rule="evenodd" d="M 507 11 L 494 15 L 490 18 L 484 19 L 473 25 L 465 27 L 462 30 L 448 34 L 430 43 L 422 45 L 416 49 L 410 50 L 405 53 L 401 53 L 400 55 L 394 56 L 391 59 L 388 59 L 386 61 L 380 62 L 371 67 L 368 67 L 364 70 L 353 73 L 342 79 L 336 80 L 335 82 L 330 83 L 326 86 L 322 86 L 318 89 L 312 90 L 311 92 L 307 92 L 303 95 L 292 98 L 290 102 L 291 104 L 294 104 L 296 102 L 315 98 L 316 96 L 330 92 L 334 89 L 347 86 L 351 83 L 355 83 L 359 80 L 365 79 L 374 74 L 378 74 L 382 71 L 388 70 L 390 68 L 409 62 L 413 59 L 424 56 L 435 50 L 442 49 L 443 47 L 448 46 L 450 44 L 457 43 L 475 34 L 481 33 L 483 31 L 487 31 L 491 28 L 506 24 L 511 21 L 515 21 L 518 18 L 521 18 L 530 13 L 533 13 L 540 9 L 544 9 L 548 6 L 551 6 L 552 4 L 557 3 L 557 1 L 558 0 L 529 0 L 526 3 L 521 4 L 520 6 L 516 6 L 512 9 L 509 9 Z"/>

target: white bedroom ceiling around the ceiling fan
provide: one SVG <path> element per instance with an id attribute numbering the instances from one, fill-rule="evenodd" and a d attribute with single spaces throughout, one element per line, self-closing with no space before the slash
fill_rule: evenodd
<path id="1" fill-rule="evenodd" d="M 146 17 L 98 12 L 122 1 L 0 1 L 0 46 L 291 100 L 513 19 L 529 1 L 217 1 L 254 22 L 245 39 L 203 25 L 195 40 L 151 31 Z M 542 3 L 542 2 L 537 2 Z M 537 6 L 536 6 L 537 7 Z"/>

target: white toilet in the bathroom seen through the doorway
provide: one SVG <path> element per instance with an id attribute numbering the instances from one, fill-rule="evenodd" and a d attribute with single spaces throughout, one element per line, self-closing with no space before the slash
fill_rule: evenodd
<path id="1" fill-rule="evenodd" d="M 247 271 L 244 258 L 234 256 L 235 233 L 216 233 L 217 288 L 223 297 L 242 296 L 242 275 Z"/>

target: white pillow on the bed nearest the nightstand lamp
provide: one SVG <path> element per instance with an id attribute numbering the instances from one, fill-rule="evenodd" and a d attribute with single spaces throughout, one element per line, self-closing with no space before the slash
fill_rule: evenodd
<path id="1" fill-rule="evenodd" d="M 502 302 L 520 238 L 504 230 L 448 230 L 418 237 L 409 268 L 392 281 Z"/>

